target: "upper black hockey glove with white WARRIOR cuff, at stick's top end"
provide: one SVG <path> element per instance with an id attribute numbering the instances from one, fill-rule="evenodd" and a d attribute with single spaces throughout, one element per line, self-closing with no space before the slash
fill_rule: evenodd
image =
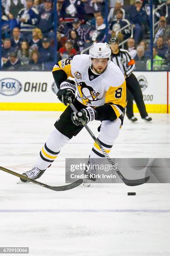
<path id="1" fill-rule="evenodd" d="M 74 102 L 76 86 L 73 80 L 67 79 L 60 84 L 60 89 L 57 92 L 58 99 L 65 105 L 69 103 L 68 100 Z"/>

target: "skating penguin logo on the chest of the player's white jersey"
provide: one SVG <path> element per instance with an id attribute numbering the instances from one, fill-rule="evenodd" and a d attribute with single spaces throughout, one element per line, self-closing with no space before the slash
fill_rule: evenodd
<path id="1" fill-rule="evenodd" d="M 95 92 L 95 90 L 91 86 L 87 86 L 85 82 L 77 83 L 77 88 L 79 97 L 84 105 L 92 105 L 91 101 L 101 100 L 98 98 L 100 93 Z"/>

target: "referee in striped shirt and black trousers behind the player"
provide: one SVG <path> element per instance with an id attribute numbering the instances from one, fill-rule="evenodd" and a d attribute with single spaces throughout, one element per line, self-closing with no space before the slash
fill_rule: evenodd
<path id="1" fill-rule="evenodd" d="M 132 73 L 136 67 L 134 59 L 130 57 L 128 51 L 119 48 L 119 42 L 116 37 L 110 39 L 110 48 L 112 50 L 111 60 L 120 67 L 126 79 L 127 92 L 127 110 L 126 115 L 129 120 L 135 123 L 138 119 L 133 114 L 133 98 L 136 102 L 141 118 L 147 123 L 152 121 L 146 112 L 145 103 L 143 101 L 143 94 L 140 85 L 135 75 Z"/>

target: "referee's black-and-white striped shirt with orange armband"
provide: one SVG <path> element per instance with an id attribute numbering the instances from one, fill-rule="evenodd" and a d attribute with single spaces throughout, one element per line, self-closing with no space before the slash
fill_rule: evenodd
<path id="1" fill-rule="evenodd" d="M 120 67 L 123 74 L 127 77 L 134 71 L 136 65 L 134 59 L 130 57 L 128 51 L 119 49 L 117 54 L 111 54 L 111 60 Z"/>

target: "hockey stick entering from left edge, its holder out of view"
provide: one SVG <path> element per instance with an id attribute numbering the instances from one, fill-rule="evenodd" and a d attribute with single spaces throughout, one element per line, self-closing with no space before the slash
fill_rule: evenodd
<path id="1" fill-rule="evenodd" d="M 65 185 L 65 186 L 53 187 L 53 186 L 49 186 L 49 185 L 47 185 L 47 184 L 38 182 L 38 181 L 36 181 L 36 180 L 34 180 L 34 179 L 30 179 L 30 178 L 28 178 L 28 177 L 26 177 L 26 176 L 24 176 L 24 175 L 22 175 L 22 174 L 19 174 L 19 173 L 17 173 L 17 172 L 13 172 L 13 171 L 11 171 L 11 170 L 9 170 L 9 169 L 6 169 L 6 168 L 4 168 L 4 167 L 2 167 L 2 166 L 0 166 L 0 170 L 1 170 L 1 171 L 4 171 L 4 172 L 8 172 L 8 173 L 10 173 L 10 174 L 13 174 L 13 175 L 15 175 L 15 176 L 17 176 L 17 177 L 19 177 L 19 178 L 28 180 L 29 182 L 35 183 L 35 184 L 37 184 L 37 185 L 40 185 L 41 187 L 46 187 L 46 188 L 48 188 L 48 189 L 52 189 L 52 190 L 55 190 L 55 191 L 65 191 L 65 190 L 73 189 L 73 188 L 75 188 L 75 187 L 78 187 L 78 186 L 79 186 L 80 184 L 82 184 L 82 182 L 83 182 L 82 179 L 78 179 L 78 180 L 76 180 L 75 182 L 73 182 L 73 183 L 71 183 L 71 184 L 68 184 L 68 185 Z"/>

